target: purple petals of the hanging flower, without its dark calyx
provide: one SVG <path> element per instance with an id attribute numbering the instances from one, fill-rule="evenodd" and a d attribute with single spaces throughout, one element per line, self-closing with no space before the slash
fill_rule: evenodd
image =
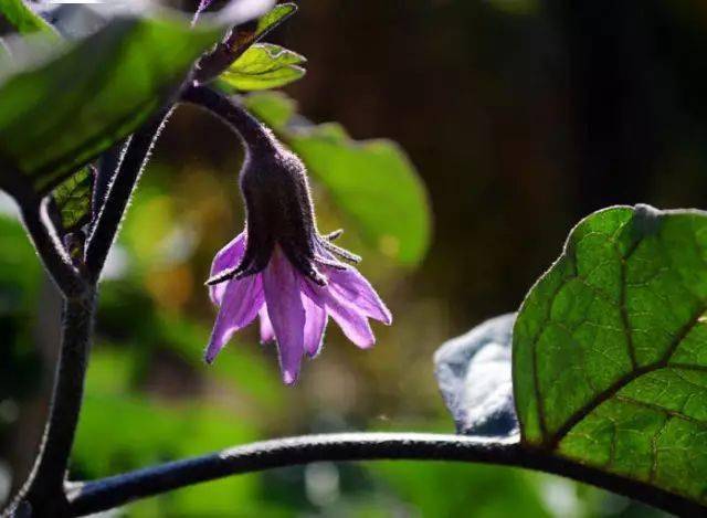
<path id="1" fill-rule="evenodd" d="M 323 240 L 325 237 L 321 237 Z M 246 249 L 245 232 L 219 252 L 212 276 L 236 267 Z M 220 307 L 205 359 L 213 361 L 233 334 L 260 317 L 261 340 L 277 341 L 283 381 L 294 383 L 303 356 L 314 358 L 323 345 L 329 315 L 346 337 L 366 349 L 376 342 L 368 318 L 390 324 L 390 311 L 366 278 L 352 266 L 331 266 L 331 253 L 319 250 L 326 263 L 319 285 L 303 275 L 275 245 L 267 266 L 257 274 L 232 278 L 210 287 L 212 302 Z"/>

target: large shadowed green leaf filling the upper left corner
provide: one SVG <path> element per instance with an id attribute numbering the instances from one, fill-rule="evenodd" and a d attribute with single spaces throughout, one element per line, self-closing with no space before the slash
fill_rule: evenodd
<path id="1" fill-rule="evenodd" d="M 119 18 L 0 86 L 0 157 L 46 192 L 137 129 L 221 30 Z"/>

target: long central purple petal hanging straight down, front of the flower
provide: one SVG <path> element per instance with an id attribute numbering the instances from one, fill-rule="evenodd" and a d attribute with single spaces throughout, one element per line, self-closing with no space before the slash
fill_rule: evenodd
<path id="1" fill-rule="evenodd" d="M 300 274 L 275 246 L 270 264 L 263 271 L 263 287 L 286 384 L 297 381 L 304 353 L 305 308 L 302 304 L 300 279 Z"/>

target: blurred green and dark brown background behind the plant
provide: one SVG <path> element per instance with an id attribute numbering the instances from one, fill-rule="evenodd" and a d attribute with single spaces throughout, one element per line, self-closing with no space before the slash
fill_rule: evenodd
<path id="1" fill-rule="evenodd" d="M 431 357 L 518 307 L 573 223 L 613 203 L 705 208 L 707 8 L 700 0 L 305 0 L 268 40 L 308 59 L 286 88 L 315 121 L 390 137 L 426 184 L 430 250 L 370 229 L 313 181 L 323 231 L 395 317 L 358 351 L 329 326 L 300 382 L 240 334 L 201 361 L 214 309 L 202 286 L 240 232 L 241 149 L 217 120 L 172 117 L 102 285 L 72 476 L 93 478 L 243 442 L 345 430 L 451 432 Z M 189 8 L 189 6 L 183 6 Z M 381 181 L 374 203 L 399 184 Z M 378 183 L 377 183 L 378 186 Z M 346 203 L 344 203 L 346 204 Z M 31 465 L 57 349 L 60 300 L 4 202 L 0 218 L 0 500 Z M 350 208 L 349 208 L 350 209 Z M 380 212 L 384 214 L 384 211 Z M 390 222 L 381 221 L 381 224 Z M 368 234 L 367 234 L 368 233 Z M 425 241 L 425 236 L 407 239 Z M 439 463 L 315 464 L 131 505 L 151 516 L 648 516 L 546 475 Z"/>

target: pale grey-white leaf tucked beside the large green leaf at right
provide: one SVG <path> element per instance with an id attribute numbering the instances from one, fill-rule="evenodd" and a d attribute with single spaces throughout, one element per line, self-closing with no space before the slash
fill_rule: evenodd
<path id="1" fill-rule="evenodd" d="M 515 314 L 492 318 L 445 342 L 434 353 L 434 374 L 458 433 L 518 433 L 510 381 L 515 321 Z"/>

